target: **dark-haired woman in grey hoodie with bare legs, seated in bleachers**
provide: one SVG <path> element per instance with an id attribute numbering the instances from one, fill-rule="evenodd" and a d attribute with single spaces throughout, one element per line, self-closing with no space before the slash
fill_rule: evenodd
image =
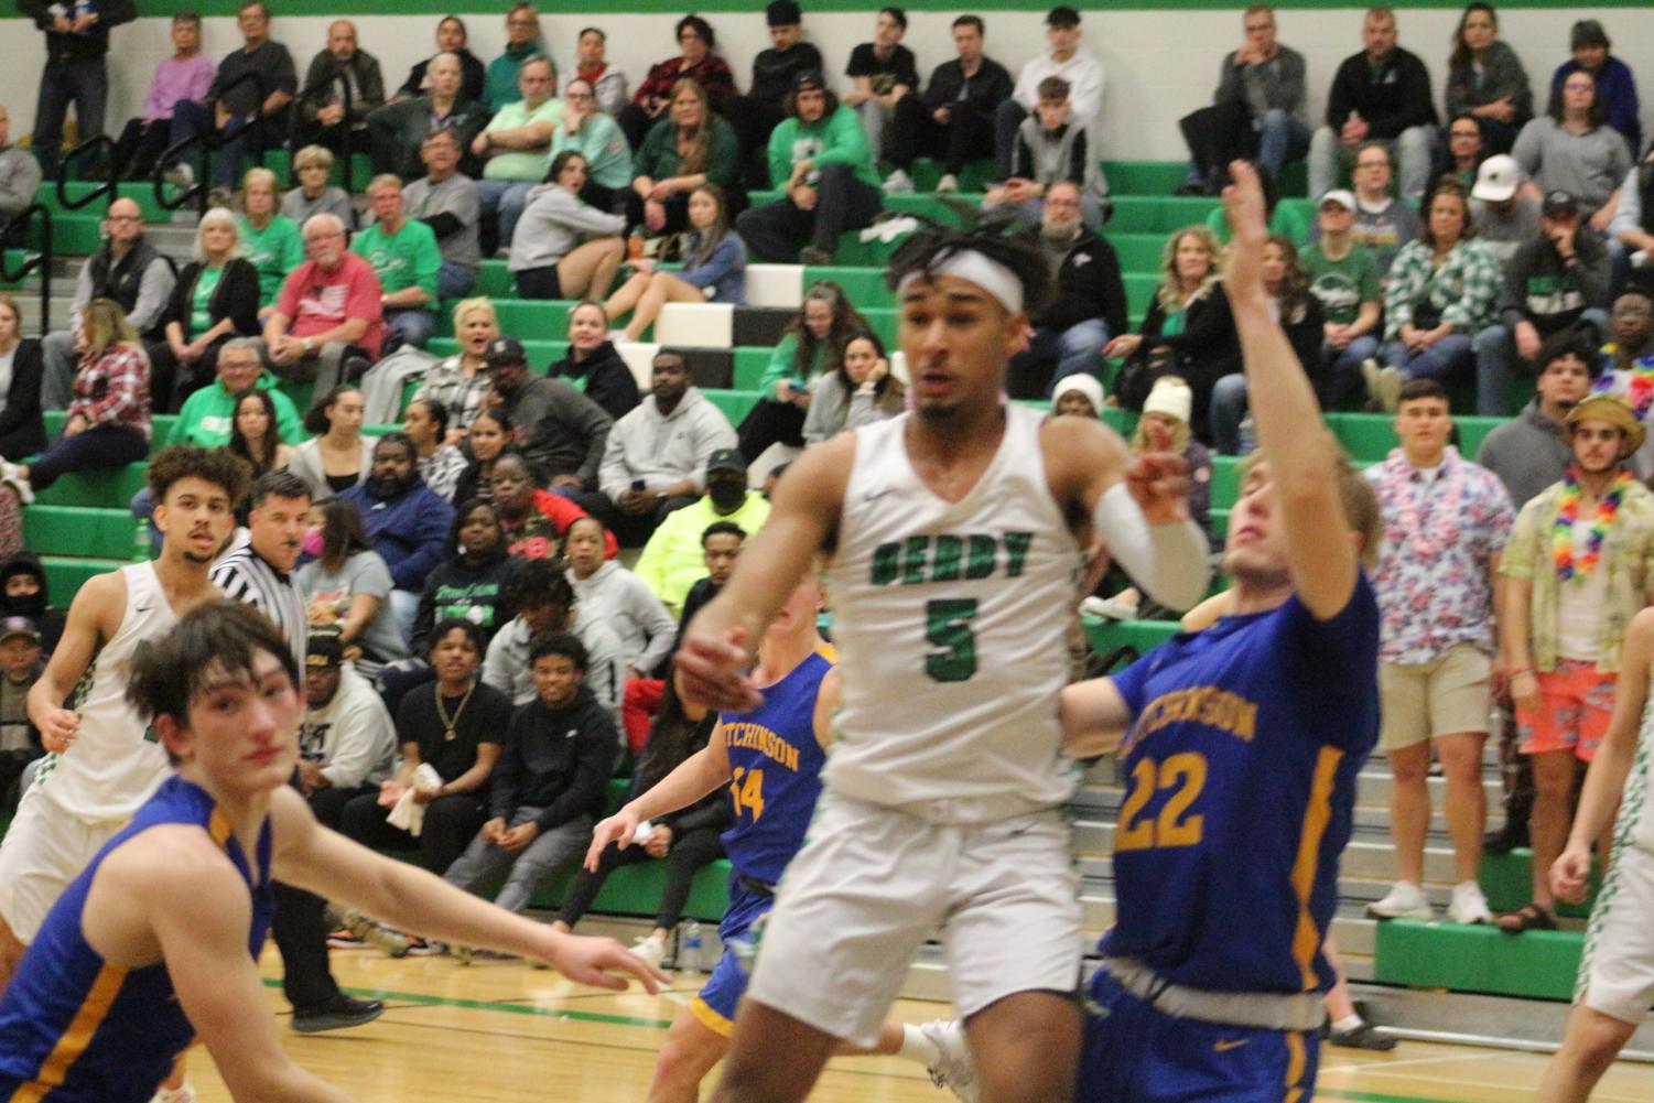
<path id="1" fill-rule="evenodd" d="M 528 193 L 506 261 L 526 299 L 602 299 L 614 286 L 625 215 L 581 202 L 586 170 L 586 157 L 566 149 L 551 159 L 547 182 Z"/>

